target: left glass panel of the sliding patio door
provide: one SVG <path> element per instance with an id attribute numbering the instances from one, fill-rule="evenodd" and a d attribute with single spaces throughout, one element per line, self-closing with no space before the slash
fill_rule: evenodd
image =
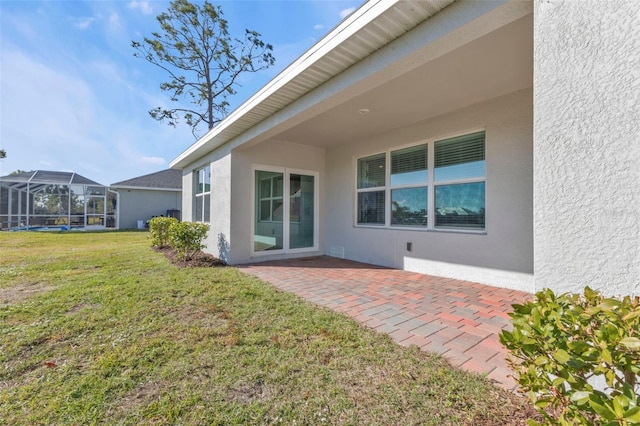
<path id="1" fill-rule="evenodd" d="M 284 174 L 256 170 L 254 251 L 283 249 Z"/>

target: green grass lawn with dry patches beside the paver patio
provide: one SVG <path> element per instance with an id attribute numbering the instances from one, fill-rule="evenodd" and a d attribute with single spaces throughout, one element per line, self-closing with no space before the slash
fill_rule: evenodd
<path id="1" fill-rule="evenodd" d="M 147 235 L 0 232 L 0 424 L 500 425 L 531 412 L 236 268 L 178 268 Z"/>

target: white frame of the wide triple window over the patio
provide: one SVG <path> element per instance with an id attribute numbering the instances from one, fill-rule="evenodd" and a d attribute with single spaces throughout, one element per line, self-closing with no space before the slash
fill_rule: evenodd
<path id="1" fill-rule="evenodd" d="M 453 232 L 453 233 L 471 233 L 471 234 L 486 234 L 487 233 L 487 213 L 486 213 L 486 205 L 487 205 L 487 172 L 486 172 L 486 164 L 487 158 L 485 154 L 485 174 L 484 177 L 477 178 L 460 178 L 460 179 L 450 179 L 446 181 L 435 181 L 435 145 L 436 142 L 444 141 L 448 139 L 453 139 L 456 137 L 472 135 L 478 132 L 485 132 L 485 152 L 486 152 L 486 129 L 472 129 L 468 131 L 464 131 L 461 133 L 455 133 L 446 135 L 443 137 L 421 140 L 418 142 L 413 142 L 411 144 L 405 144 L 400 146 L 394 146 L 385 151 L 375 151 L 372 153 L 368 153 L 365 155 L 358 155 L 353 157 L 353 173 L 354 173 L 354 198 L 353 198 L 353 226 L 356 228 L 373 228 L 373 229 L 393 229 L 393 230 L 411 230 L 417 232 Z M 407 184 L 407 185 L 391 185 L 391 152 L 398 151 L 405 148 L 411 148 L 418 145 L 427 145 L 427 226 L 403 226 L 403 225 L 392 225 L 391 224 L 391 191 L 393 189 L 404 189 L 404 188 L 422 188 L 425 184 Z M 385 186 L 384 187 L 376 187 L 376 188 L 358 188 L 358 161 L 372 157 L 374 155 L 385 154 Z M 464 227 L 444 227 L 444 226 L 435 226 L 435 188 L 436 186 L 444 186 L 444 185 L 452 185 L 452 184 L 464 184 L 464 183 L 475 183 L 475 182 L 484 182 L 485 184 L 485 223 L 483 228 L 464 228 Z M 358 223 L 358 194 L 361 192 L 368 191 L 382 191 L 384 190 L 385 194 L 385 223 L 384 224 L 368 224 L 368 223 Z"/>

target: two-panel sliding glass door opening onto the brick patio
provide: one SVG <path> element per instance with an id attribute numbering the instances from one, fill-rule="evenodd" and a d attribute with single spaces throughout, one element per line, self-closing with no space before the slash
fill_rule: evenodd
<path id="1" fill-rule="evenodd" d="M 317 174 L 258 168 L 254 176 L 254 252 L 317 250 Z"/>

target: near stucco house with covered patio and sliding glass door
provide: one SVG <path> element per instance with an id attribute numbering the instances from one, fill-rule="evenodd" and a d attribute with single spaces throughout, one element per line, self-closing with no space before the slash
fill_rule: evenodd
<path id="1" fill-rule="evenodd" d="M 369 1 L 180 154 L 232 264 L 640 293 L 640 2 Z"/>

